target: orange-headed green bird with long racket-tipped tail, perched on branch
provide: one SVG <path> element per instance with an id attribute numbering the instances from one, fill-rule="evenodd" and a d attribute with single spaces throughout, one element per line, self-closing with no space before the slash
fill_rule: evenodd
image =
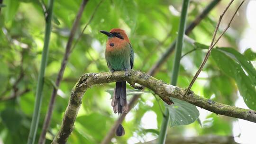
<path id="1" fill-rule="evenodd" d="M 102 34 L 108 36 L 105 50 L 105 59 L 111 72 L 127 71 L 133 68 L 134 52 L 126 32 L 120 28 L 113 28 L 110 32 L 101 30 Z M 114 113 L 119 115 L 128 113 L 126 97 L 126 81 L 117 81 L 111 102 Z M 124 128 L 119 124 L 116 135 L 125 134 Z"/>

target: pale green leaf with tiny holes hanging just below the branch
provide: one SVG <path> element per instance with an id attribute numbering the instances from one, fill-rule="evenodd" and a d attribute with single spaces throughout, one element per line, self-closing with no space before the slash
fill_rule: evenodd
<path id="1" fill-rule="evenodd" d="M 172 98 L 172 100 L 174 101 L 174 104 L 168 107 L 171 117 L 171 127 L 188 125 L 197 120 L 199 111 L 196 106 L 183 100 L 174 98 Z"/>

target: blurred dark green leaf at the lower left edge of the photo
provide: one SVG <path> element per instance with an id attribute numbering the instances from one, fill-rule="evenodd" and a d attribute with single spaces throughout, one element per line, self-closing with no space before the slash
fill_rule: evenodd
<path id="1" fill-rule="evenodd" d="M 14 108 L 6 108 L 0 113 L 0 117 L 7 128 L 12 132 L 16 132 L 21 126 L 22 116 Z"/>

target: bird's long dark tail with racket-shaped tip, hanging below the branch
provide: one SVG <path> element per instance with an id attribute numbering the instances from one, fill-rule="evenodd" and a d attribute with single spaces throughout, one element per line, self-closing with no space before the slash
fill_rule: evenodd
<path id="1" fill-rule="evenodd" d="M 115 113 L 122 114 L 123 112 L 128 112 L 128 104 L 126 99 L 126 81 L 116 82 L 111 105 Z M 119 125 L 116 130 L 116 135 L 122 136 L 124 133 L 125 132 L 123 126 Z"/>

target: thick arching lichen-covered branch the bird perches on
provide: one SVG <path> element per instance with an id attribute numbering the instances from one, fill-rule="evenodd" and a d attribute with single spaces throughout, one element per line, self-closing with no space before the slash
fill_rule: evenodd
<path id="1" fill-rule="evenodd" d="M 128 74 L 126 74 L 128 73 Z M 75 118 L 78 110 L 82 104 L 82 97 L 88 88 L 95 84 L 109 83 L 115 81 L 128 81 L 130 83 L 138 83 L 150 90 L 153 90 L 165 103 L 170 104 L 171 97 L 181 99 L 189 102 L 200 108 L 204 108 L 216 114 L 225 115 L 244 119 L 256 123 L 256 111 L 251 109 L 237 108 L 221 104 L 210 99 L 205 99 L 199 95 L 194 94 L 192 91 L 183 96 L 184 89 L 166 84 L 163 81 L 157 80 L 154 77 L 136 70 L 128 70 L 127 72 L 100 72 L 100 73 L 87 73 L 77 81 L 73 90 L 69 104 L 65 110 L 64 118 L 58 134 L 55 136 L 53 144 L 64 144 L 74 128 Z"/>

